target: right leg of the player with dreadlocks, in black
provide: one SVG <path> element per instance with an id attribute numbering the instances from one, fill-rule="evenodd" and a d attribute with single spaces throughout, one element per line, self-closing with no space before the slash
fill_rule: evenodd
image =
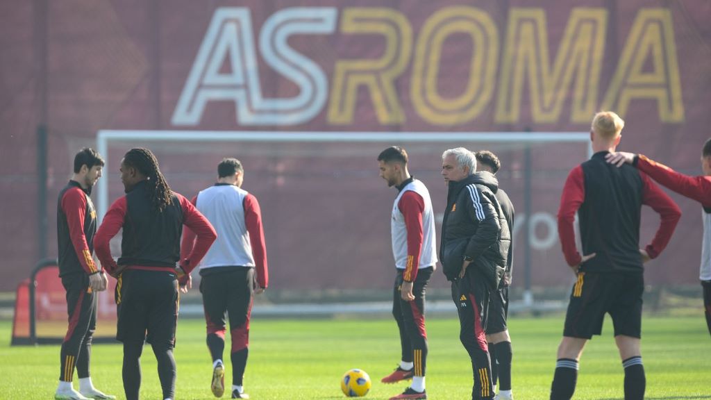
<path id="1" fill-rule="evenodd" d="M 175 273 L 146 271 L 149 278 L 146 283 L 152 283 L 152 301 L 146 306 L 149 309 L 148 332 L 146 340 L 153 347 L 153 353 L 158 362 L 158 377 L 161 381 L 164 399 L 174 399 L 176 390 L 176 360 L 173 357 L 173 347 L 176 342 L 176 327 L 178 325 L 178 278 Z"/>

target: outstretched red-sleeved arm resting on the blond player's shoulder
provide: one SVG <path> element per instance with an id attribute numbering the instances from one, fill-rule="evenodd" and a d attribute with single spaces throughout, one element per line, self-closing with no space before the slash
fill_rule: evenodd
<path id="1" fill-rule="evenodd" d="M 663 186 L 682 196 L 700 202 L 704 207 L 711 207 L 711 177 L 690 177 L 680 174 L 664 164 L 648 159 L 642 154 L 634 157 L 633 164 L 641 172 L 648 174 L 649 177 Z"/>

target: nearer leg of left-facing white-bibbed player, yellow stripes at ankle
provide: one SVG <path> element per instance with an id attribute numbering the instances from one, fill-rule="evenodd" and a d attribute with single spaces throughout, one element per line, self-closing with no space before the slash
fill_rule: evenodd
<path id="1" fill-rule="evenodd" d="M 410 388 L 402 394 L 392 397 L 391 400 L 400 399 L 426 399 L 425 394 L 425 372 L 427 370 L 427 328 L 424 323 L 424 300 L 427 283 L 432 277 L 432 268 L 422 268 L 417 272 L 417 278 L 412 284 L 412 294 L 415 300 L 405 301 L 398 296 L 400 309 L 402 310 L 402 321 L 405 325 L 407 336 L 412 343 L 413 376 Z"/>

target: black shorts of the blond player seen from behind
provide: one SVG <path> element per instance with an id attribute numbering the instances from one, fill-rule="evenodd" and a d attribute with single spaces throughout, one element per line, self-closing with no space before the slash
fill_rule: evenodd
<path id="1" fill-rule="evenodd" d="M 600 335 L 609 313 L 614 335 L 641 337 L 641 273 L 579 273 L 570 293 L 563 336 L 590 339 Z"/>

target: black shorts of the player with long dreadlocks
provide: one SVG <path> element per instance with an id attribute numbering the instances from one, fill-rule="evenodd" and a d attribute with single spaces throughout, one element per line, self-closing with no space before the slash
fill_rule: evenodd
<path id="1" fill-rule="evenodd" d="M 172 270 L 125 270 L 114 295 L 117 340 L 175 346 L 179 295 Z"/>

